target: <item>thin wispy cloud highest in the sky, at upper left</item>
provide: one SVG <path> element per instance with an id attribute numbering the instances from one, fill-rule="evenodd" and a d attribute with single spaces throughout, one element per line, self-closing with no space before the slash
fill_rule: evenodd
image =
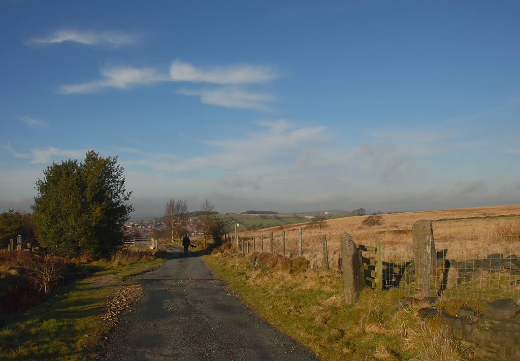
<path id="1" fill-rule="evenodd" d="M 137 43 L 139 40 L 139 35 L 121 31 L 95 32 L 89 30 L 59 29 L 47 36 L 33 37 L 25 42 L 25 44 L 48 45 L 71 42 L 83 45 L 110 45 L 119 47 Z"/>

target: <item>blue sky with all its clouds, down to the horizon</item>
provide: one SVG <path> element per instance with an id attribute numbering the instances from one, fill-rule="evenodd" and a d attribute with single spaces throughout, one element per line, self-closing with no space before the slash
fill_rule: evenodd
<path id="1" fill-rule="evenodd" d="M 0 212 L 117 156 L 133 217 L 520 203 L 518 1 L 0 0 Z"/>

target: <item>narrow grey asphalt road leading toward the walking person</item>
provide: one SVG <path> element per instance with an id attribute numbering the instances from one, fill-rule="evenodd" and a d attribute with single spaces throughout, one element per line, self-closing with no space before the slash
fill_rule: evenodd
<path id="1" fill-rule="evenodd" d="M 140 283 L 144 296 L 102 350 L 107 360 L 318 360 L 256 316 L 194 253 L 174 256 Z"/>

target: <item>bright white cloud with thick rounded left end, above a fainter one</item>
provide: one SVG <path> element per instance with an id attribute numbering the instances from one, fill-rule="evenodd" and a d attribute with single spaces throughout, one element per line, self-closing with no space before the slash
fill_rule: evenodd
<path id="1" fill-rule="evenodd" d="M 212 67 L 201 69 L 190 63 L 174 60 L 170 75 L 177 82 L 213 83 L 223 85 L 258 84 L 277 78 L 268 67 L 238 65 L 226 68 Z"/>

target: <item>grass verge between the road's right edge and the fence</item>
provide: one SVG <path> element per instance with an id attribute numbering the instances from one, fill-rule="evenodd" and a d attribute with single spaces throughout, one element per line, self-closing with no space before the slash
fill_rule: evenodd
<path id="1" fill-rule="evenodd" d="M 418 303 L 396 310 L 399 290 L 366 289 L 344 305 L 341 275 L 252 265 L 233 251 L 206 263 L 261 317 L 324 360 L 465 360 L 470 353 L 427 327 Z"/>

